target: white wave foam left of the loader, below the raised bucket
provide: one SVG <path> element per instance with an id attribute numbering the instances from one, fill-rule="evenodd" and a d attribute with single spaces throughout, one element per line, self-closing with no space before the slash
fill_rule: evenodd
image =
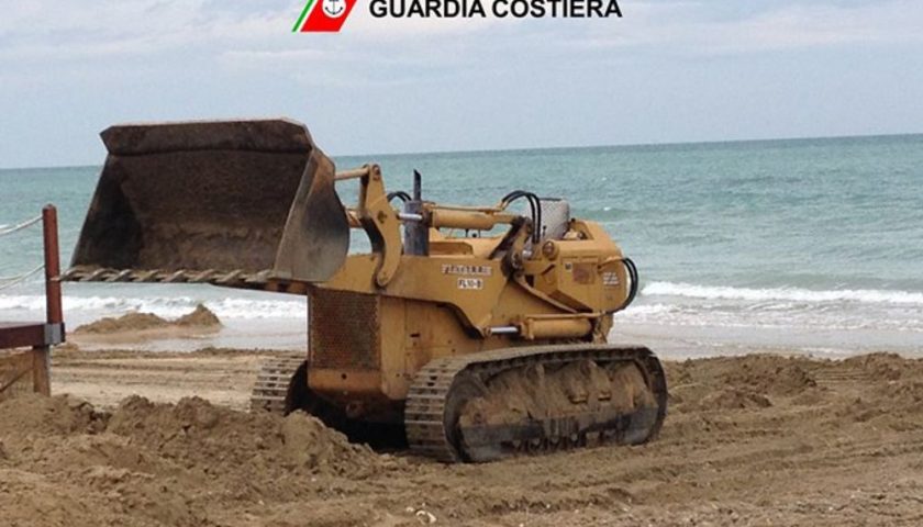
<path id="1" fill-rule="evenodd" d="M 64 296 L 67 312 L 87 315 L 112 315 L 132 311 L 176 317 L 189 313 L 198 304 L 204 304 L 219 318 L 304 318 L 307 309 L 299 300 L 254 300 L 225 298 L 202 300 L 192 296 L 170 298 L 118 298 L 118 296 Z M 45 309 L 43 295 L 0 295 L 0 311 L 42 312 Z"/>

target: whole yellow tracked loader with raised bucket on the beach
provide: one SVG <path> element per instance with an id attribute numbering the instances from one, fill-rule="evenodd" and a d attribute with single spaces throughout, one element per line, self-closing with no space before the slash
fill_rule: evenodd
<path id="1" fill-rule="evenodd" d="M 63 279 L 307 296 L 307 354 L 267 365 L 254 410 L 303 410 L 445 462 L 636 445 L 659 430 L 660 362 L 607 344 L 635 266 L 566 201 L 513 191 L 483 206 L 434 203 L 419 173 L 411 192 L 388 192 L 378 165 L 336 172 L 283 119 L 101 135 L 109 155 Z M 344 180 L 358 181 L 354 206 L 336 192 Z M 349 254 L 351 229 L 369 253 Z"/>

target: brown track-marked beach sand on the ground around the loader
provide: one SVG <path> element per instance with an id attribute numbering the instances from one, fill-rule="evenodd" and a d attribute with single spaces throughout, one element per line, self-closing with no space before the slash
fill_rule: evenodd
<path id="1" fill-rule="evenodd" d="M 920 360 L 667 362 L 654 442 L 446 467 L 348 445 L 309 416 L 241 412 L 269 355 L 58 351 L 62 395 L 0 404 L 0 523 L 923 523 Z"/>

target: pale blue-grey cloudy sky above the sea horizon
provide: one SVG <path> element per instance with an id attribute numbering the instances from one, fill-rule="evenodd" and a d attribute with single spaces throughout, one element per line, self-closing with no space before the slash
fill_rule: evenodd
<path id="1" fill-rule="evenodd" d="M 622 19 L 374 19 L 299 0 L 0 0 L 0 168 L 130 121 L 285 115 L 332 155 L 923 132 L 923 1 L 621 0 Z M 483 0 L 489 2 L 490 0 Z"/>

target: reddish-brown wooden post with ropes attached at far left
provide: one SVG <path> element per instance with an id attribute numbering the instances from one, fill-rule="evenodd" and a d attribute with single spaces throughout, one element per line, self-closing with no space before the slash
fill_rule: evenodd
<path id="1" fill-rule="evenodd" d="M 45 339 L 49 332 L 60 332 L 64 337 L 64 313 L 60 299 L 60 253 L 58 250 L 57 210 L 54 205 L 42 209 L 42 231 L 45 246 Z M 36 346 L 32 350 L 32 389 L 44 395 L 52 394 L 51 346 Z"/>

